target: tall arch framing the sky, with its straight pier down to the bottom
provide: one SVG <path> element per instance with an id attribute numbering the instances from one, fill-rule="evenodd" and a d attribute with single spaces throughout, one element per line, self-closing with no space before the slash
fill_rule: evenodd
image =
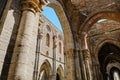
<path id="1" fill-rule="evenodd" d="M 63 10 L 62 5 L 57 0 L 49 0 L 50 3 L 47 4 L 47 6 L 52 7 L 62 26 L 63 34 L 64 34 L 64 54 L 66 56 L 66 74 L 69 76 L 66 76 L 66 79 L 73 79 L 73 49 L 74 49 L 74 40 L 73 40 L 73 34 L 68 22 L 68 19 L 66 17 L 66 14 Z M 71 71 L 71 72 L 70 72 Z"/>

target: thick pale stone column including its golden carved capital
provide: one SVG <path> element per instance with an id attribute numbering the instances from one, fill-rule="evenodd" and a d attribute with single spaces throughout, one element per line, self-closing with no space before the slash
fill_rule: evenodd
<path id="1" fill-rule="evenodd" d="M 22 0 L 21 3 L 22 17 L 11 65 L 14 75 L 9 80 L 33 80 L 37 41 L 37 29 L 34 27 L 38 27 L 36 16 L 38 16 L 37 12 L 40 11 L 41 5 L 37 0 Z"/>

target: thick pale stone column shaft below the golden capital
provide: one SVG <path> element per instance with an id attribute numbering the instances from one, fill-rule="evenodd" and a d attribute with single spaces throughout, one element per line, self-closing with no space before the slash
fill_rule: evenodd
<path id="1" fill-rule="evenodd" d="M 23 11 L 20 30 L 17 37 L 18 44 L 15 46 L 17 54 L 17 65 L 15 68 L 14 80 L 31 80 L 28 75 L 32 74 L 31 66 L 34 59 L 31 58 L 32 30 L 34 27 L 35 15 L 30 11 Z M 28 72 L 29 71 L 29 72 Z M 30 75 L 29 75 L 30 76 Z"/>

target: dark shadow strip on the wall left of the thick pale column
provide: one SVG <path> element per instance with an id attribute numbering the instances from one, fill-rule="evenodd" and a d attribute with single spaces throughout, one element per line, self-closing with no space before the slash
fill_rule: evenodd
<path id="1" fill-rule="evenodd" d="M 12 15 L 11 16 L 14 17 L 14 26 L 13 26 L 12 35 L 11 35 L 11 38 L 8 44 L 8 48 L 6 51 L 0 80 L 7 80 L 8 78 L 8 72 L 9 72 L 9 68 L 11 64 L 11 59 L 13 56 L 13 50 L 14 50 L 15 41 L 16 41 L 19 23 L 20 23 L 20 18 L 21 18 L 20 0 L 17 0 L 17 1 L 13 0 L 13 2 L 11 3 L 10 9 L 9 9 L 9 12 L 10 11 L 11 12 L 13 11 L 13 16 Z"/>

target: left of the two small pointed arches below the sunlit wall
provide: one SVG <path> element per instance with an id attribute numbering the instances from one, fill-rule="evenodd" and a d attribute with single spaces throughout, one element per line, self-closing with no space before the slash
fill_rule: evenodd
<path id="1" fill-rule="evenodd" d="M 38 80 L 41 80 L 43 71 L 46 74 L 46 79 L 51 80 L 51 78 L 50 78 L 50 76 L 52 74 L 51 70 L 52 70 L 52 68 L 51 68 L 51 65 L 50 65 L 49 61 L 45 60 L 44 63 L 40 67 Z"/>

